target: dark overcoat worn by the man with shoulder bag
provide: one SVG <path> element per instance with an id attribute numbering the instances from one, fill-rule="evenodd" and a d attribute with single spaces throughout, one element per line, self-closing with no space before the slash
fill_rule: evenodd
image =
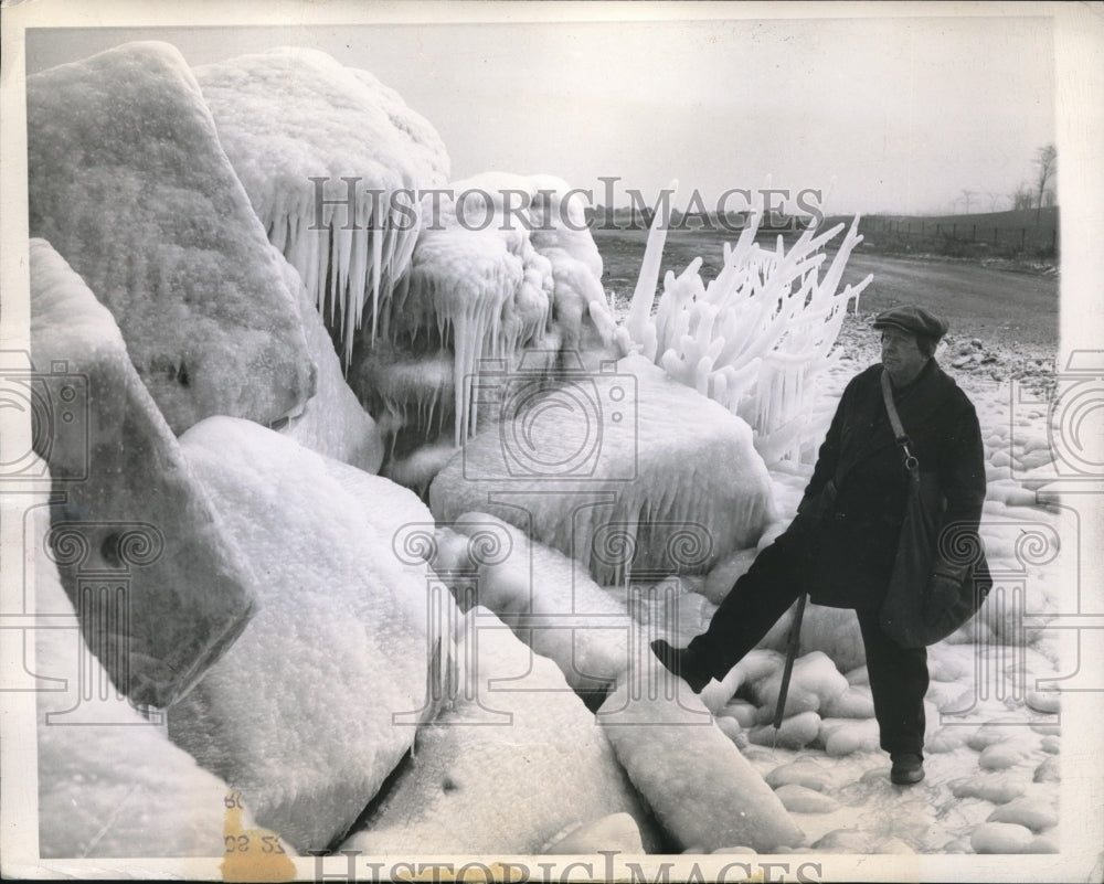
<path id="1" fill-rule="evenodd" d="M 889 586 L 907 498 L 907 472 L 882 398 L 882 371 L 881 364 L 872 365 L 848 383 L 799 510 L 807 514 L 829 480 L 835 483 L 835 502 L 819 520 L 805 520 L 815 550 L 808 592 L 818 605 L 879 608 Z M 945 498 L 941 531 L 955 526 L 959 551 L 975 544 L 975 577 L 987 581 L 977 541 L 985 460 L 973 403 L 934 359 L 916 380 L 894 391 L 893 398 L 921 471 L 938 477 Z M 799 515 L 795 526 L 802 521 Z M 944 565 L 958 572 L 966 567 L 960 558 L 944 561 Z"/>

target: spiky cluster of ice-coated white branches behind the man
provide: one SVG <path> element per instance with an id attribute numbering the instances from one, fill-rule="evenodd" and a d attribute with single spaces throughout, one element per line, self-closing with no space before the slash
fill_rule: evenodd
<path id="1" fill-rule="evenodd" d="M 629 339 L 671 377 L 745 418 L 767 464 L 796 460 L 819 441 L 830 412 L 818 409 L 816 377 L 836 358 L 832 345 L 847 306 L 870 283 L 837 292 L 843 267 L 862 237 L 858 217 L 824 277 L 824 247 L 843 225 L 814 236 L 806 230 L 785 249 L 755 242 L 760 214 L 724 247 L 724 266 L 708 285 L 696 258 L 677 277 L 668 271 L 656 305 L 666 228 L 656 217 L 625 321 Z"/>

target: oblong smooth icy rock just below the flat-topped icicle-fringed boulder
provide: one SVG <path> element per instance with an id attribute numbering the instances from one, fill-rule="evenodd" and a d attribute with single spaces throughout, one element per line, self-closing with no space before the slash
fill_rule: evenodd
<path id="1" fill-rule="evenodd" d="M 485 513 L 450 524 L 496 554 L 479 563 L 478 604 L 555 661 L 572 688 L 605 688 L 628 668 L 633 629 L 625 606 L 562 553 Z"/>

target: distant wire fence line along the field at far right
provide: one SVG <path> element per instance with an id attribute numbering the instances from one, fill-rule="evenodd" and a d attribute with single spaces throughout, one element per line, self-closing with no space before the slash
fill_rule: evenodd
<path id="1" fill-rule="evenodd" d="M 904 245 L 909 251 L 934 251 L 940 254 L 1033 253 L 1041 257 L 1058 254 L 1058 227 L 1007 226 L 976 221 L 948 221 L 946 219 L 883 219 L 866 217 L 861 232 L 870 245 Z"/>

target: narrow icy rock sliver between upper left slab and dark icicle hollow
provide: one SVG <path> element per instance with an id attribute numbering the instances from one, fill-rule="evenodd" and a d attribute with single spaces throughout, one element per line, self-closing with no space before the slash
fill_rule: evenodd
<path id="1" fill-rule="evenodd" d="M 283 258 L 279 262 L 288 288 L 298 297 L 299 319 L 318 372 L 315 395 L 279 429 L 312 451 L 378 472 L 383 462 L 383 434 L 346 383 L 333 341 L 299 275 Z"/>

